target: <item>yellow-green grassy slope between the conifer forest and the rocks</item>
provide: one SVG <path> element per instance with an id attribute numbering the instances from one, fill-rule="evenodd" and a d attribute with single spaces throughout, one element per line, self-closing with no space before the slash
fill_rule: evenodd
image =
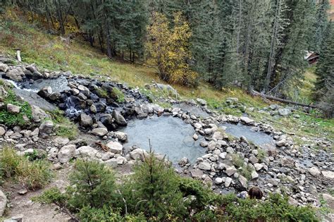
<path id="1" fill-rule="evenodd" d="M 30 24 L 18 12 L 8 11 L 4 18 L 0 19 L 0 54 L 15 57 L 16 49 L 21 50 L 21 57 L 25 63 L 36 63 L 39 68 L 49 70 L 70 70 L 75 74 L 89 75 L 94 78 L 102 78 L 126 83 L 130 87 L 137 87 L 144 94 L 153 99 L 159 97 L 171 97 L 170 94 L 159 90 L 147 90 L 144 85 L 153 80 L 159 80 L 156 68 L 147 64 L 133 64 L 127 61 L 111 60 L 99 51 L 90 47 L 82 39 L 73 39 L 69 43 L 61 41 L 57 35 L 51 35 L 38 27 L 36 23 Z M 311 90 L 316 75 L 314 67 L 308 68 L 305 73 L 303 85 L 299 88 L 298 100 L 311 103 Z M 197 88 L 188 88 L 180 85 L 172 85 L 178 92 L 178 99 L 202 98 L 208 102 L 211 109 L 218 109 L 226 114 L 241 116 L 239 109 L 230 109 L 225 106 L 228 97 L 237 97 L 240 104 L 245 107 L 265 109 L 273 102 L 261 97 L 252 97 L 246 91 L 230 87 L 216 90 L 206 82 L 201 82 Z M 154 101 L 159 103 L 159 99 Z M 165 104 L 160 104 L 161 106 Z M 168 106 L 168 104 L 166 104 Z M 276 128 L 284 128 L 287 132 L 293 132 L 299 140 L 301 137 L 326 137 L 334 140 L 334 119 L 321 118 L 319 113 L 311 111 L 304 113 L 299 107 L 295 107 L 300 118 L 287 116 L 279 120 L 267 113 L 246 113 L 257 121 L 267 122 Z"/>

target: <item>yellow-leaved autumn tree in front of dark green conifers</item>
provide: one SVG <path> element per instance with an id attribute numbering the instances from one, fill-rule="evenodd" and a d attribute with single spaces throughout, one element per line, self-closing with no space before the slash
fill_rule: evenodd
<path id="1" fill-rule="evenodd" d="M 198 74 L 187 63 L 192 58 L 189 24 L 180 12 L 174 14 L 173 27 L 166 16 L 154 13 L 147 27 L 147 53 L 154 59 L 160 78 L 167 82 L 194 86 Z"/>

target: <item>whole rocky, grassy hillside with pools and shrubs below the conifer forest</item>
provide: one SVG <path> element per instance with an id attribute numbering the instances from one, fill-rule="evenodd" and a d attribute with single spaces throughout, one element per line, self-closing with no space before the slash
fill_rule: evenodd
<path id="1" fill-rule="evenodd" d="M 168 84 L 154 63 L 39 24 L 0 14 L 4 218 L 333 219 L 333 118 L 242 87 Z M 316 78 L 307 68 L 295 99 L 313 102 Z"/>

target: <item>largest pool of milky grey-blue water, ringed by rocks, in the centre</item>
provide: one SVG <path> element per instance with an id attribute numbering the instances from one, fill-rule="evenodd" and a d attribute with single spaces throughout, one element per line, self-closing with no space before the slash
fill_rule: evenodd
<path id="1" fill-rule="evenodd" d="M 206 149 L 199 146 L 199 140 L 194 141 L 194 128 L 184 123 L 180 118 L 152 117 L 144 120 L 128 121 L 128 126 L 123 128 L 128 134 L 128 142 L 125 146 L 137 145 L 149 150 L 149 140 L 154 152 L 166 154 L 174 164 L 183 157 L 187 157 L 192 164 L 205 154 Z"/>

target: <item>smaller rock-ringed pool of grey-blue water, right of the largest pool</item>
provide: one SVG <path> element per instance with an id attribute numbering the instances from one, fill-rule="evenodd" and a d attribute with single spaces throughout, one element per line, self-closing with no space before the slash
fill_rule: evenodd
<path id="1" fill-rule="evenodd" d="M 252 142 L 260 147 L 275 147 L 273 137 L 267 135 L 264 132 L 256 132 L 247 125 L 243 125 L 241 123 L 238 123 L 237 125 L 232 123 L 224 123 L 221 126 L 226 128 L 225 132 L 228 134 L 235 137 L 244 136 L 249 142 Z"/>

